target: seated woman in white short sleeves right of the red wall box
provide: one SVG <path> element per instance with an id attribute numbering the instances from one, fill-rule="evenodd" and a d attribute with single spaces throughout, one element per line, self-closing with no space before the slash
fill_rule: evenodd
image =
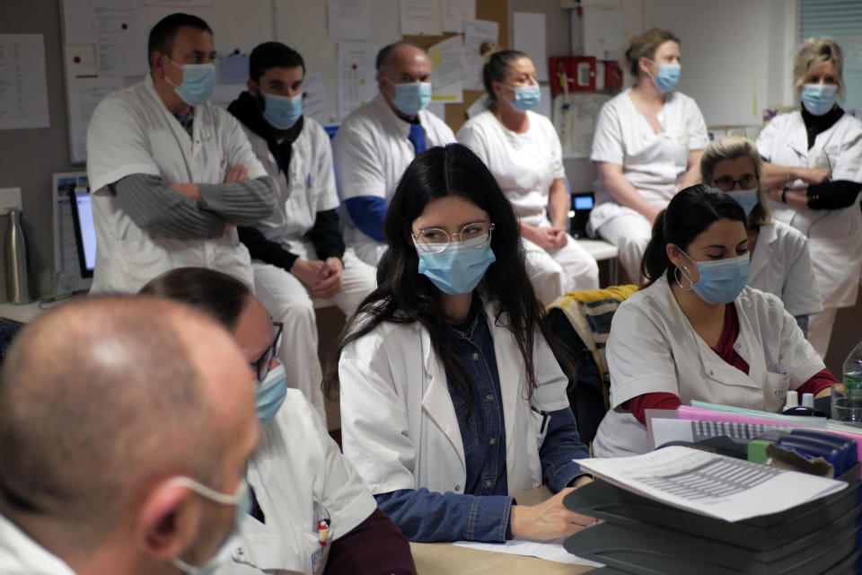
<path id="1" fill-rule="evenodd" d="M 605 102 L 596 120 L 590 160 L 599 172 L 596 207 L 587 230 L 620 250 L 638 283 L 651 226 L 677 190 L 700 181 L 700 154 L 709 143 L 698 104 L 676 92 L 680 40 L 652 29 L 626 50 L 633 88 Z"/>

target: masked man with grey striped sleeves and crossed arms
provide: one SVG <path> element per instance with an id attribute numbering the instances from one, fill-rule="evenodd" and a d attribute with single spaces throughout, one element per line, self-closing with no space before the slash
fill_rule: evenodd
<path id="1" fill-rule="evenodd" d="M 250 286 L 235 226 L 267 217 L 275 186 L 239 123 L 207 103 L 213 33 L 174 13 L 148 42 L 144 82 L 105 98 L 87 130 L 99 251 L 93 291 L 135 292 L 181 266 L 222 270 Z"/>

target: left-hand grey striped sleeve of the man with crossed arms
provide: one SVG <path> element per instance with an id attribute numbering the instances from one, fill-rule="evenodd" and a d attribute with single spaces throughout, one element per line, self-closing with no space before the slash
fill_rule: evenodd
<path id="1" fill-rule="evenodd" d="M 158 176 L 133 173 L 108 188 L 128 217 L 151 234 L 179 240 L 224 234 L 224 217 L 173 190 Z"/>

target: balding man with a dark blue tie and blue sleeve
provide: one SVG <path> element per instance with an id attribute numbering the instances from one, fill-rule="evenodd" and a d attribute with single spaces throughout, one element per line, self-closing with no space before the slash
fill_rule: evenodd
<path id="1" fill-rule="evenodd" d="M 395 185 L 416 155 L 455 141 L 452 129 L 425 110 L 431 102 L 431 59 L 399 41 L 377 54 L 374 100 L 353 111 L 332 141 L 345 241 L 376 266 L 385 249 L 383 220 Z"/>

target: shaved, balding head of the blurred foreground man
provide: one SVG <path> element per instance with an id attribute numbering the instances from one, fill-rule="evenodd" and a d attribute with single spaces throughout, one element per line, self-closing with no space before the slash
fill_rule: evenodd
<path id="1" fill-rule="evenodd" d="M 172 302 L 92 297 L 43 315 L 0 371 L 0 513 L 96 544 L 149 483 L 217 482 L 228 420 L 254 420 L 249 371 L 224 328 Z"/>

